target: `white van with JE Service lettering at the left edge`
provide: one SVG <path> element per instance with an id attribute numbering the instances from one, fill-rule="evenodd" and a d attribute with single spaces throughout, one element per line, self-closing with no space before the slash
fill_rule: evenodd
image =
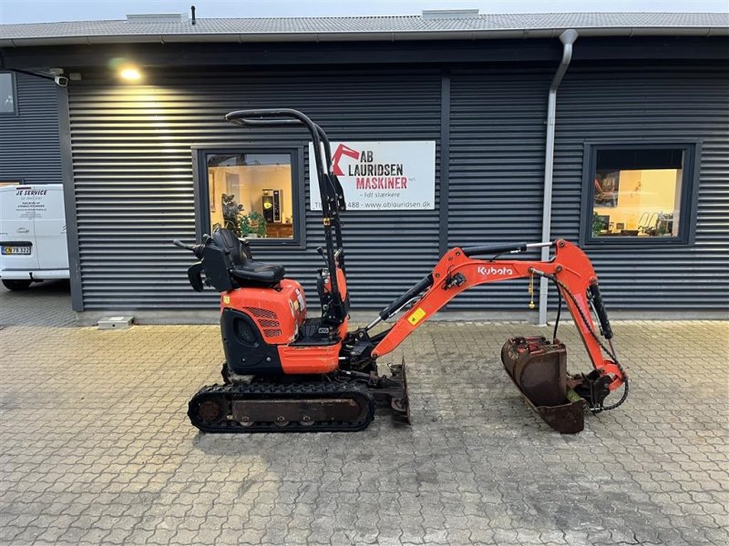
<path id="1" fill-rule="evenodd" d="M 24 290 L 69 278 L 63 185 L 0 187 L 0 279 Z"/>

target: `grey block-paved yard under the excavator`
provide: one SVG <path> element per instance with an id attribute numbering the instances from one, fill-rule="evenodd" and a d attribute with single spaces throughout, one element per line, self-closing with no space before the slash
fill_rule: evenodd
<path id="1" fill-rule="evenodd" d="M 388 360 L 406 356 L 411 428 L 384 413 L 354 434 L 212 436 L 185 411 L 218 379 L 215 327 L 68 328 L 53 301 L 0 306 L 6 544 L 729 542 L 724 322 L 616 323 L 631 398 L 575 436 L 501 367 L 509 336 L 547 333 L 516 323 L 407 339 Z M 586 369 L 570 324 L 560 337 Z"/>

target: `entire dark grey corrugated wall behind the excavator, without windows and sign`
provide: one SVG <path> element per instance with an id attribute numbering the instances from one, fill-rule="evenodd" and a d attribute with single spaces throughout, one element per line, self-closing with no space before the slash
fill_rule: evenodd
<path id="1" fill-rule="evenodd" d="M 453 69 L 448 244 L 540 238 L 546 95 L 552 68 Z M 196 73 L 69 87 L 86 309 L 211 308 L 169 245 L 195 231 L 190 147 L 234 141 L 302 145 L 305 137 L 243 132 L 221 121 L 241 107 L 290 106 L 333 139 L 440 137 L 436 70 Z M 729 84 L 726 71 L 570 67 L 558 99 L 552 236 L 578 240 L 584 143 L 702 139 L 693 247 L 589 248 L 611 309 L 725 308 L 729 271 Z M 438 153 L 439 161 L 439 142 Z M 437 162 L 436 161 L 436 162 Z M 308 169 L 304 166 L 305 173 Z M 436 180 L 439 166 L 436 165 Z M 439 184 L 439 182 L 438 182 Z M 307 180 L 308 208 L 308 180 Z M 438 258 L 438 210 L 348 212 L 344 236 L 354 308 L 379 308 Z M 307 248 L 259 250 L 313 290 L 318 213 Z M 534 255 L 536 258 L 536 254 Z M 313 291 L 310 297 L 315 299 Z M 525 281 L 469 291 L 452 309 L 526 309 Z"/>

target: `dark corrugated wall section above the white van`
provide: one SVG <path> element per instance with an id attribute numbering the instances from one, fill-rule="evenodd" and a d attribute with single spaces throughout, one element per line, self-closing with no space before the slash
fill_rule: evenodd
<path id="1" fill-rule="evenodd" d="M 0 180 L 60 184 L 56 84 L 15 74 L 17 116 L 0 116 Z"/>

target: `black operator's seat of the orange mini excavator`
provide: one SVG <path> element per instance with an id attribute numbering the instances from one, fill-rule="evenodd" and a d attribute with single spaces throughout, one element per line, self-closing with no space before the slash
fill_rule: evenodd
<path id="1" fill-rule="evenodd" d="M 231 258 L 231 278 L 241 287 L 274 287 L 286 274 L 283 266 L 255 261 L 247 242 L 241 241 L 230 229 L 217 229 L 213 242 Z"/>

